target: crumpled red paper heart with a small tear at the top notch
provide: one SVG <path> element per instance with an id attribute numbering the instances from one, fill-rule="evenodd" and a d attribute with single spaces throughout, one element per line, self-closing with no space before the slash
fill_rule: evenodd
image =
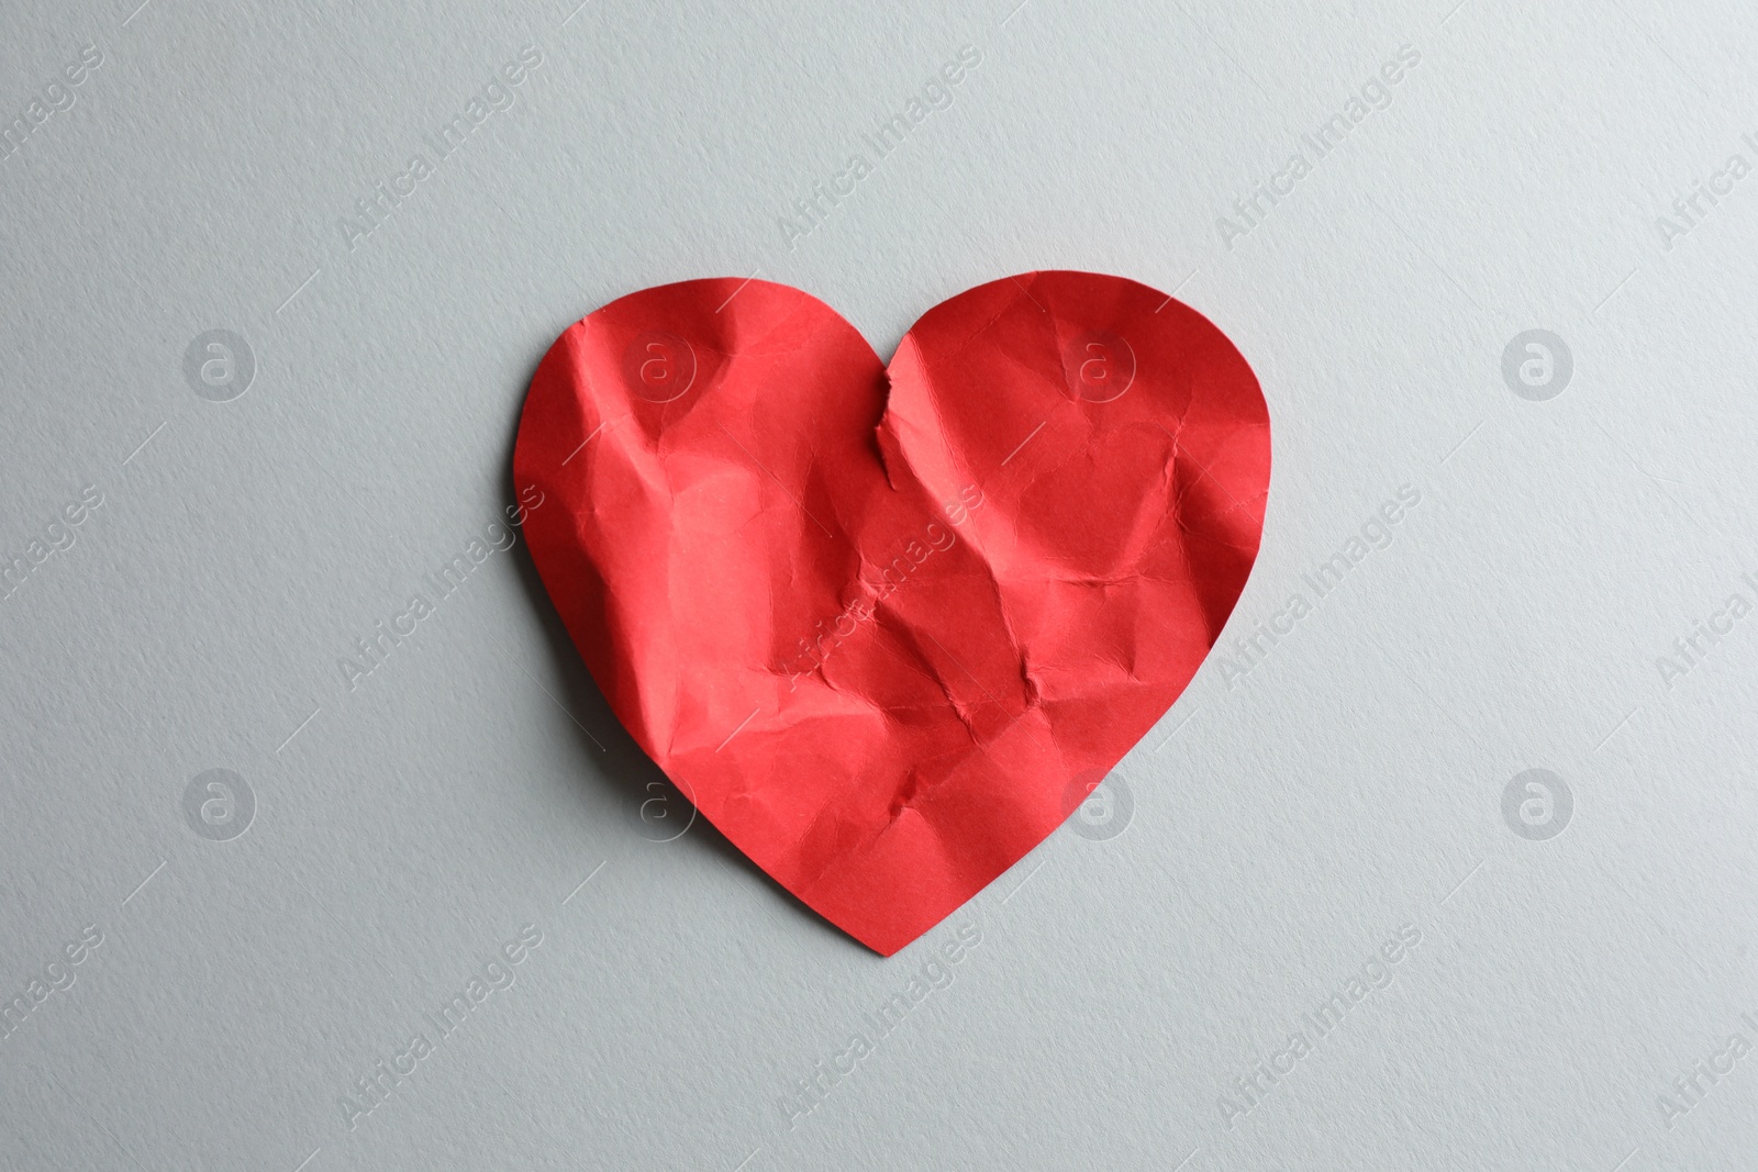
<path id="1" fill-rule="evenodd" d="M 568 327 L 513 476 L 640 747 L 890 956 L 1178 699 L 1257 555 L 1269 416 L 1215 325 L 1122 278 L 977 286 L 890 367 L 821 300 L 728 278 Z"/>

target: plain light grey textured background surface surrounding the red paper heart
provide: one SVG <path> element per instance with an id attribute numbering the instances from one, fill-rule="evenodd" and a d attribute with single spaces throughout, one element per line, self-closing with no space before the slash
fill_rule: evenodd
<path id="1" fill-rule="evenodd" d="M 0 1042 L 0 1167 L 1754 1167 L 1758 1054 L 1660 1096 L 1758 1042 L 1758 617 L 1656 664 L 1758 597 L 1758 177 L 1656 227 L 1758 163 L 1749 5 L 135 4 L 0 18 L 7 119 L 104 54 L 0 162 L 0 548 L 104 494 L 0 603 L 0 995 L 104 935 Z M 953 105 L 786 248 L 962 44 Z M 1227 248 L 1403 44 L 1391 107 Z M 524 46 L 515 104 L 350 250 L 338 218 Z M 687 812 L 522 543 L 345 685 L 510 503 L 575 318 L 761 271 L 888 355 L 1037 267 L 1176 288 L 1257 369 L 1275 481 L 1227 645 L 1422 494 L 1245 678 L 1211 659 L 1113 777 L 1123 833 L 1060 831 L 881 961 L 707 826 L 654 842 Z M 211 329 L 255 355 L 230 402 L 183 374 Z M 1573 355 L 1551 401 L 1503 380 L 1528 329 Z M 255 794 L 227 842 L 183 808 L 214 768 Z M 1558 836 L 1503 819 L 1528 768 L 1572 791 Z M 350 1130 L 338 1096 L 526 922 L 517 984 Z M 1391 986 L 1225 1111 L 1401 924 Z"/>

